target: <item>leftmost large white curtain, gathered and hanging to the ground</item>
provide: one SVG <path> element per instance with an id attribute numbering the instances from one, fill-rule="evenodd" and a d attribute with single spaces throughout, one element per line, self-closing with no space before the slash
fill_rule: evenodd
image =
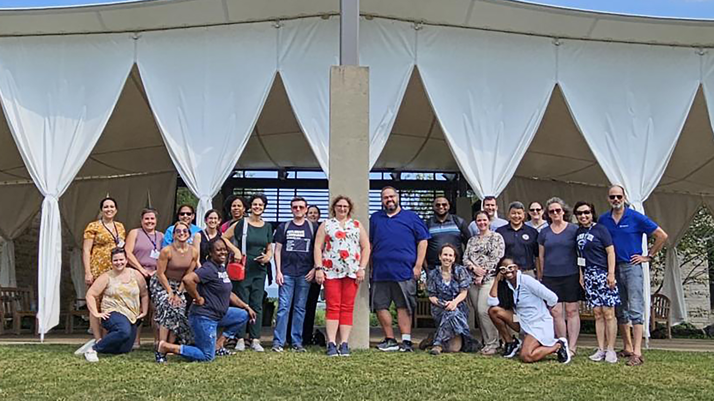
<path id="1" fill-rule="evenodd" d="M 0 98 L 25 166 L 44 196 L 39 333 L 59 323 L 59 197 L 99 139 L 134 62 L 128 34 L 0 39 Z"/>

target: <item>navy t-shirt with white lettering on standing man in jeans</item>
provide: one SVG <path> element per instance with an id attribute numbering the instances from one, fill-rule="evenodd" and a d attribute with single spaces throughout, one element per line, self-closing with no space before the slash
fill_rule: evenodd
<path id="1" fill-rule="evenodd" d="M 280 270 L 284 275 L 306 275 L 313 268 L 316 230 L 315 223 L 313 230 L 310 230 L 308 220 L 303 221 L 302 225 L 296 225 L 293 220 L 278 225 L 273 240 L 283 245 L 280 251 Z"/>

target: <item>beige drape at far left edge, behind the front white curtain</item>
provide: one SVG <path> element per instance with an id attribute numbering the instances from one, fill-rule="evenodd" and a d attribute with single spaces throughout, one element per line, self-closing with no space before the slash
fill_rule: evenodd
<path id="1" fill-rule="evenodd" d="M 15 273 L 15 238 L 31 223 L 40 209 L 42 198 L 37 188 L 31 184 L 9 184 L 0 186 L 2 208 L 0 208 L 0 286 L 17 285 Z"/>

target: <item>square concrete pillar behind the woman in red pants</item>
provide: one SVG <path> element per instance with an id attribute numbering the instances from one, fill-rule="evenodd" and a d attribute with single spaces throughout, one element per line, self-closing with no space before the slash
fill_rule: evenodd
<path id="1" fill-rule="evenodd" d="M 330 198 L 345 195 L 353 218 L 369 228 L 369 69 L 330 69 Z M 369 275 L 369 271 L 367 272 Z M 365 281 L 355 300 L 350 346 L 369 347 L 369 289 Z"/>

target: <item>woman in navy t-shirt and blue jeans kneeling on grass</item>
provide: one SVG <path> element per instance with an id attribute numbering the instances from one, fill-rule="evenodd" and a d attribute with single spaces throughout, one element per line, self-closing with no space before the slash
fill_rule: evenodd
<path id="1" fill-rule="evenodd" d="M 193 330 L 194 345 L 175 345 L 159 342 L 159 352 L 174 352 L 188 360 L 209 362 L 216 355 L 231 355 L 223 347 L 226 338 L 235 338 L 238 329 L 243 328 L 248 319 L 256 320 L 256 313 L 248 304 L 231 292 L 233 285 L 226 272 L 228 247 L 223 238 L 217 237 L 208 243 L 210 258 L 201 268 L 188 273 L 183 285 L 193 298 L 188 312 L 188 323 Z M 238 259 L 241 255 L 238 255 Z M 238 308 L 229 308 L 229 305 Z M 216 329 L 223 328 L 223 334 L 216 340 Z"/>

